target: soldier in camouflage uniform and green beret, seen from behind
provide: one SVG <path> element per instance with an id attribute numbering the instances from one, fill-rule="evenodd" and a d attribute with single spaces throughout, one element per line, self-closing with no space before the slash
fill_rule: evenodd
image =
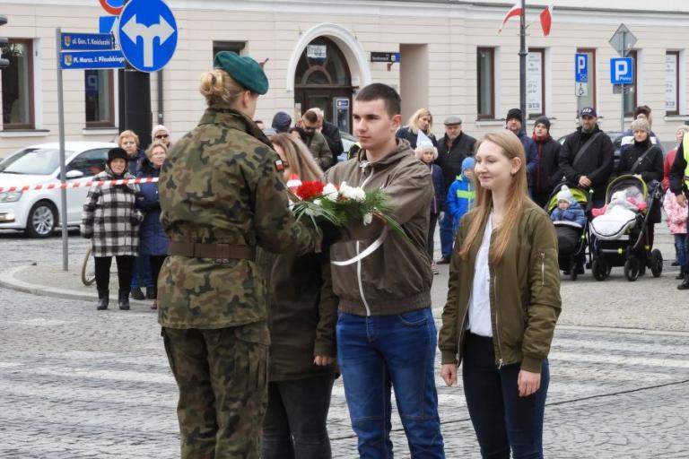
<path id="1" fill-rule="evenodd" d="M 321 237 L 294 221 L 283 164 L 252 121 L 263 69 L 227 51 L 214 65 L 202 78 L 204 116 L 161 170 L 170 256 L 158 319 L 179 385 L 182 458 L 257 458 L 270 339 L 255 247 L 318 252 Z"/>

